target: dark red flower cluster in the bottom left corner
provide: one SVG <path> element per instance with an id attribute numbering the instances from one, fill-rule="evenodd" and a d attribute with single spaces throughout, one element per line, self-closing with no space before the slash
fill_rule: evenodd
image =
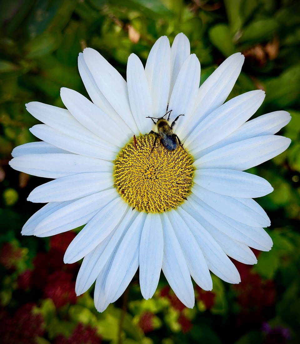
<path id="1" fill-rule="evenodd" d="M 41 314 L 33 314 L 34 303 L 26 303 L 11 318 L 0 311 L 0 338 L 2 344 L 32 344 L 37 336 L 44 334 L 44 319 Z"/>

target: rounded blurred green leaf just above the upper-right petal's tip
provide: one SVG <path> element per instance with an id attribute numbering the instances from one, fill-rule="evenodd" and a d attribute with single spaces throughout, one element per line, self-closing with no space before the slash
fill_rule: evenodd
<path id="1" fill-rule="evenodd" d="M 208 32 L 212 44 L 225 56 L 230 56 L 235 52 L 232 41 L 232 34 L 226 24 L 217 24 Z"/>

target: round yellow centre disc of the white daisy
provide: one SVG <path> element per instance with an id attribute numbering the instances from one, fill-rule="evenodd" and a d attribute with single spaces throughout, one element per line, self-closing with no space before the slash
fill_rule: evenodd
<path id="1" fill-rule="evenodd" d="M 193 159 L 182 147 L 168 151 L 155 136 L 132 139 L 114 161 L 114 183 L 122 198 L 146 213 L 176 208 L 190 193 Z"/>

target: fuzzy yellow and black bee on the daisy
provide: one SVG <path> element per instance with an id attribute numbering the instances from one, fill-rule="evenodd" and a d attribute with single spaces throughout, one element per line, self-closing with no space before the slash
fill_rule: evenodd
<path id="1" fill-rule="evenodd" d="M 182 144 L 181 144 L 180 140 L 179 140 L 179 137 L 176 134 L 174 134 L 173 131 L 172 131 L 172 129 L 173 129 L 177 119 L 180 116 L 184 116 L 184 114 L 181 114 L 181 115 L 177 116 L 175 118 L 175 120 L 171 123 L 171 125 L 169 125 L 169 118 L 170 118 L 171 111 L 172 110 L 166 112 L 163 117 L 159 117 L 159 118 L 150 117 L 150 116 L 146 117 L 146 118 L 151 118 L 152 119 L 152 121 L 156 125 L 157 131 L 158 131 L 158 132 L 155 132 L 155 131 L 151 130 L 149 132 L 149 134 L 154 134 L 155 135 L 155 139 L 154 139 L 154 143 L 153 143 L 153 148 L 152 148 L 149 156 L 151 155 L 151 153 L 153 152 L 153 149 L 155 148 L 155 144 L 156 144 L 157 138 L 159 138 L 160 143 L 168 151 L 174 151 L 175 149 L 178 148 L 178 146 L 180 146 L 182 149 L 184 149 L 182 147 Z M 168 115 L 168 119 L 164 118 L 166 115 Z M 157 121 L 155 122 L 154 119 L 157 119 Z"/>

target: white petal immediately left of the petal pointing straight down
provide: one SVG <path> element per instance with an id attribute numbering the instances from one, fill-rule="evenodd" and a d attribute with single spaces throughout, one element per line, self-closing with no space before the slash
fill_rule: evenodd
<path id="1" fill-rule="evenodd" d="M 105 285 L 105 295 L 110 302 L 123 294 L 138 268 L 138 252 L 145 219 L 145 213 L 138 214 L 113 259 Z"/>

